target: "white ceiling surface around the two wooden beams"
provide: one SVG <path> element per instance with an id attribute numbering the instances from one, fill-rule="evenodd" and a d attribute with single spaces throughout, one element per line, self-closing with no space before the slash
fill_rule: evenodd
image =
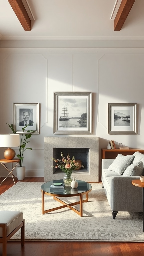
<path id="1" fill-rule="evenodd" d="M 135 1 L 120 31 L 110 20 L 116 0 L 25 1 L 35 19 L 31 31 L 24 31 L 8 0 L 0 1 L 1 40 L 144 39 L 144 0 Z"/>

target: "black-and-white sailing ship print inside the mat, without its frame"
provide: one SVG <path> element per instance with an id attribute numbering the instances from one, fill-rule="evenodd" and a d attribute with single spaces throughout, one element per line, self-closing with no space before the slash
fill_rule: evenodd
<path id="1" fill-rule="evenodd" d="M 59 99 L 59 127 L 87 127 L 87 99 Z"/>

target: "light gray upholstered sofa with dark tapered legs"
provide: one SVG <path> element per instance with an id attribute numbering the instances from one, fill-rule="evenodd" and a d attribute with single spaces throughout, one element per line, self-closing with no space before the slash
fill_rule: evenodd
<path id="1" fill-rule="evenodd" d="M 139 162 L 142 165 L 142 170 L 138 169 L 135 176 L 124 176 L 124 172 L 119 174 L 117 170 L 114 171 L 112 167 L 115 165 L 111 167 L 111 164 L 114 163 L 114 160 L 116 162 L 116 159 L 102 159 L 102 187 L 111 207 L 113 219 L 116 218 L 118 211 L 142 212 L 142 188 L 133 186 L 131 181 L 140 179 L 140 175 L 143 175 L 144 155 L 140 152 L 135 152 L 132 157 L 133 159 L 130 160 L 130 164 L 125 169 L 127 172 L 128 168 L 130 169 Z"/>

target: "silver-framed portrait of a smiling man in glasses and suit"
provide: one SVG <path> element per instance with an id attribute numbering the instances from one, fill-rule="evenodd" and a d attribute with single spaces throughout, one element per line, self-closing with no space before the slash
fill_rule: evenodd
<path id="1" fill-rule="evenodd" d="M 28 123 L 30 125 L 24 133 L 33 130 L 30 133 L 39 134 L 39 103 L 13 103 L 13 128 L 16 133 L 23 133 L 22 128 Z"/>

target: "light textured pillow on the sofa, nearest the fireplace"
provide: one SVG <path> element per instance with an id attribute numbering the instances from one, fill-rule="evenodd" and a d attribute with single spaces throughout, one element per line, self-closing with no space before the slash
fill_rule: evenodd
<path id="1" fill-rule="evenodd" d="M 108 167 L 108 170 L 112 170 L 118 174 L 122 174 L 125 169 L 130 165 L 134 155 L 123 156 L 118 154 L 114 162 Z"/>

